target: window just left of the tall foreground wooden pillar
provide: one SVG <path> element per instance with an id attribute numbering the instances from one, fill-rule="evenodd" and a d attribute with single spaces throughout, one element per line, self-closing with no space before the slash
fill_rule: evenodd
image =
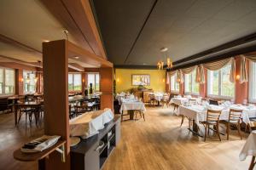
<path id="1" fill-rule="evenodd" d="M 34 94 L 37 88 L 36 73 L 33 71 L 23 71 L 24 93 Z"/>

